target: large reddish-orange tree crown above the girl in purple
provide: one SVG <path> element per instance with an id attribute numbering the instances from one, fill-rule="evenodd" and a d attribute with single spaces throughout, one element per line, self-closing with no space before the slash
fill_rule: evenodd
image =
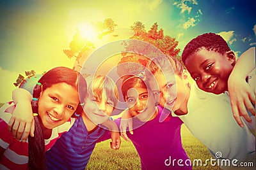
<path id="1" fill-rule="evenodd" d="M 152 58 L 159 55 L 158 51 L 161 50 L 165 55 L 175 57 L 182 63 L 181 57 L 179 56 L 180 49 L 177 48 L 179 42 L 171 36 L 164 35 L 164 30 L 162 28 L 159 29 L 157 22 L 154 23 L 148 31 L 145 30 L 145 25 L 142 22 L 134 22 L 131 26 L 131 31 L 134 32 L 134 35 L 130 39 L 145 41 L 156 46 L 156 48 L 140 41 L 131 41 L 130 43 L 125 44 L 126 51 L 140 53 L 140 55 L 150 56 L 150 58 Z M 131 62 L 139 63 L 138 56 L 134 54 L 132 57 L 130 54 L 126 55 L 125 53 L 123 53 L 123 56 L 124 57 L 118 64 L 122 64 L 124 67 L 119 67 L 119 73 L 122 72 L 120 71 L 121 69 L 124 69 L 124 72 L 141 69 L 140 67 L 135 68 L 131 64 Z M 129 62 L 129 64 L 125 65 L 125 62 Z M 148 59 L 142 59 L 140 64 L 144 66 L 145 62 L 148 62 Z"/>

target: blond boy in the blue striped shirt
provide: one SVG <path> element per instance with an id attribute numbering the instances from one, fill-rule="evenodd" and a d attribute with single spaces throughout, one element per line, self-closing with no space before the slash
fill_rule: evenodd
<path id="1" fill-rule="evenodd" d="M 77 117 L 69 131 L 54 143 L 51 150 L 47 150 L 47 169 L 85 169 L 93 148 L 97 142 L 106 140 L 103 136 L 108 130 L 111 131 L 111 148 L 117 150 L 120 147 L 118 127 L 109 119 L 119 98 L 115 82 L 108 76 L 97 74 L 88 76 L 86 83 L 87 93 L 83 93 L 86 95 L 79 95 L 84 99 L 81 116 Z M 15 102 L 28 103 L 26 95 L 16 93 L 14 96 L 16 96 Z M 27 107 L 24 107 L 22 111 L 19 115 L 25 117 L 24 119 L 32 115 Z M 19 115 L 15 118 L 15 122 L 19 120 Z"/>

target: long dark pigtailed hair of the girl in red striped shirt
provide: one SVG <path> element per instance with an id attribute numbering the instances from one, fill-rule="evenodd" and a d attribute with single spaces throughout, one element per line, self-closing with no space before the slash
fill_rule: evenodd
<path id="1" fill-rule="evenodd" d="M 84 97 L 86 96 L 87 87 L 83 76 L 77 71 L 67 67 L 55 67 L 50 71 L 47 71 L 38 82 L 41 83 L 41 85 L 36 84 L 33 90 L 33 98 L 36 99 L 40 97 L 40 92 L 44 92 L 45 89 L 57 83 L 67 83 L 77 89 L 77 92 L 79 92 L 80 103 L 83 103 Z M 80 114 L 81 111 L 83 111 L 80 103 L 76 109 L 77 114 Z M 38 113 L 38 101 L 32 101 L 31 105 L 33 113 Z M 29 136 L 28 143 L 29 169 L 46 169 L 45 143 L 41 123 L 40 117 L 35 117 L 35 137 L 32 138 Z"/>

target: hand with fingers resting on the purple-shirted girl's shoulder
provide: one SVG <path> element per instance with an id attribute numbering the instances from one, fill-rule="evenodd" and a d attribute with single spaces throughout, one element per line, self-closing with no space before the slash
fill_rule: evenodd
<path id="1" fill-rule="evenodd" d="M 132 116 L 129 113 L 128 109 L 122 111 L 121 114 L 122 114 L 122 119 L 121 119 L 121 122 L 120 122 L 121 136 L 122 136 L 122 138 L 125 139 L 125 141 L 130 141 L 130 139 L 128 138 L 128 136 L 126 134 L 126 129 L 128 127 L 129 132 L 131 134 L 133 134 L 133 131 L 132 131 L 132 118 L 131 118 Z"/>

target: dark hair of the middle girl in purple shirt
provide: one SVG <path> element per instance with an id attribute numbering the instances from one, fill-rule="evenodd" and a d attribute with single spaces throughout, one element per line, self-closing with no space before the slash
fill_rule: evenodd
<path id="1" fill-rule="evenodd" d="M 127 95 L 127 92 L 129 89 L 131 89 L 133 87 L 140 87 L 143 89 L 148 88 L 145 80 L 142 80 L 139 76 L 136 76 L 136 75 L 134 76 L 132 74 L 128 74 L 128 75 L 125 75 L 123 78 L 124 78 L 124 80 L 122 82 L 121 90 L 122 90 L 122 94 L 124 97 L 124 101 L 126 101 L 125 96 Z"/>

